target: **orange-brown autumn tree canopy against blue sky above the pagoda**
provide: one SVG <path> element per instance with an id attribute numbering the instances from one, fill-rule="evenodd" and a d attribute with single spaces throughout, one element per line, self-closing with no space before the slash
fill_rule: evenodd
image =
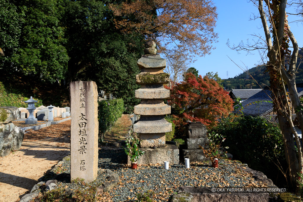
<path id="1" fill-rule="evenodd" d="M 111 4 L 116 28 L 141 33 L 165 51 L 178 44 L 179 50 L 194 55 L 210 54 L 217 13 L 210 0 L 134 0 Z M 161 43 L 165 41 L 165 43 Z"/>

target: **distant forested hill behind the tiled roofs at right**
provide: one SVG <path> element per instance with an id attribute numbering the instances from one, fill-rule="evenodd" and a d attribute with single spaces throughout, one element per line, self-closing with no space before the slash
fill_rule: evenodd
<path id="1" fill-rule="evenodd" d="M 299 57 L 297 61 L 296 83 L 303 83 L 303 50 L 299 51 Z M 264 88 L 265 85 L 269 86 L 269 75 L 266 72 L 266 67 L 260 65 L 248 70 L 252 77 Z M 226 90 L 231 89 L 248 89 L 248 88 L 260 88 L 256 81 L 251 78 L 247 73 L 243 72 L 234 78 L 224 79 L 222 85 Z"/>

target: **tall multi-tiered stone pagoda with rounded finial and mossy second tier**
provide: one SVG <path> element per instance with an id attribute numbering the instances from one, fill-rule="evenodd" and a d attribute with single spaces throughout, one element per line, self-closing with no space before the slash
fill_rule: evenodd
<path id="1" fill-rule="evenodd" d="M 140 119 L 133 126 L 141 141 L 140 150 L 145 151 L 138 164 L 164 161 L 175 164 L 179 162 L 178 147 L 165 144 L 165 133 L 171 131 L 171 123 L 164 119 L 171 113 L 171 107 L 163 101 L 169 98 L 169 90 L 163 87 L 169 82 L 169 75 L 163 72 L 166 60 L 157 54 L 154 41 L 145 43 L 144 54 L 137 62 L 141 73 L 136 75 L 136 83 L 141 84 L 141 88 L 135 91 L 135 98 L 141 99 L 135 106 L 135 114 L 140 115 Z"/>

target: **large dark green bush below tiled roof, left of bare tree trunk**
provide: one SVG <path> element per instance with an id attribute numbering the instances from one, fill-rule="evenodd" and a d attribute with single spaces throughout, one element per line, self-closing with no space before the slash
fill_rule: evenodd
<path id="1" fill-rule="evenodd" d="M 233 155 L 233 159 L 248 164 L 251 169 L 263 172 L 272 180 L 281 177 L 279 182 L 274 181 L 274 184 L 279 183 L 276 184 L 278 186 L 286 184 L 277 166 L 282 167 L 284 172 L 288 168 L 283 137 L 276 124 L 260 117 L 230 115 L 222 118 L 211 131 L 226 136 L 222 146 L 229 146 L 228 153 Z"/>

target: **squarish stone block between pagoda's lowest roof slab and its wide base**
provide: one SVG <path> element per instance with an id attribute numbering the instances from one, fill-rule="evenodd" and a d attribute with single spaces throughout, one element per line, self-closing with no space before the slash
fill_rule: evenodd
<path id="1" fill-rule="evenodd" d="M 145 134 L 140 133 L 140 147 L 141 148 L 152 148 L 152 147 L 165 147 L 165 133 L 153 133 Z"/>

